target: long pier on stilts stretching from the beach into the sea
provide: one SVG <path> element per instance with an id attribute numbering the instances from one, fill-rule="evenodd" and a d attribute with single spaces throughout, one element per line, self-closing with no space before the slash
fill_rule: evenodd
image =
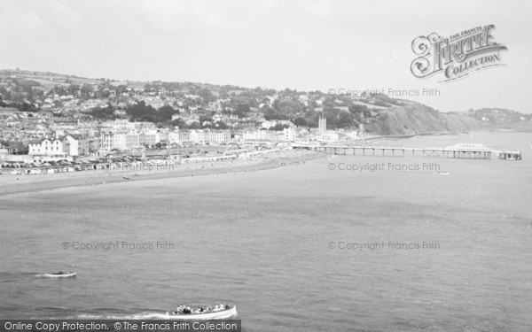
<path id="1" fill-rule="evenodd" d="M 293 144 L 293 149 L 350 156 L 489 159 L 489 149 L 405 148 L 394 146 L 329 146 Z"/>

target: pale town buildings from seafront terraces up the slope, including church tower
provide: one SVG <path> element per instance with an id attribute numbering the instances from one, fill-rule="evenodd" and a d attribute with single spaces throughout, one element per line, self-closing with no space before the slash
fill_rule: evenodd
<path id="1" fill-rule="evenodd" d="M 4 101 L 10 102 L 6 100 L 5 94 L 13 96 L 17 93 L 17 80 L 24 80 L 20 77 L 24 74 L 35 73 L 20 71 L 16 75 L 6 76 L 8 78 L 0 76 L 0 88 L 5 91 L 0 96 L 4 97 Z M 44 76 L 44 80 L 50 80 L 55 87 L 44 91 L 40 96 L 35 93 L 32 101 L 35 104 L 32 104 L 34 108 L 31 112 L 0 106 L 0 151 L 3 156 L 27 162 L 83 158 L 106 155 L 111 151 L 137 151 L 165 146 L 227 143 L 257 146 L 301 140 L 332 142 L 340 138 L 357 137 L 356 131 L 343 133 L 327 130 L 324 114 L 319 117 L 317 132 L 314 129 L 295 127 L 292 120 L 266 120 L 262 107 L 271 108 L 276 101 L 283 98 L 288 100 L 288 97 L 275 91 L 262 96 L 260 104 L 249 107 L 249 111 L 243 116 L 237 114 L 236 107 L 231 105 L 231 98 L 245 96 L 246 89 L 235 88 L 221 92 L 215 86 L 202 85 L 201 89 L 208 89 L 213 96 L 208 102 L 204 102 L 198 87 L 187 88 L 185 84 L 177 84 L 176 89 L 163 86 L 147 89 L 149 84 L 111 81 L 104 89 L 98 83 L 83 84 L 82 89 L 92 90 L 90 95 L 85 91 L 83 97 L 81 89 L 76 88 L 76 91 L 69 82 L 61 81 L 51 73 Z M 27 96 L 22 93 L 18 100 L 25 97 Z M 296 103 L 297 100 L 297 103 L 307 107 L 323 104 L 320 97 L 304 93 L 297 93 L 290 100 L 290 103 Z M 151 105 L 154 110 L 169 106 L 176 113 L 171 114 L 171 120 L 159 122 L 157 126 L 145 121 L 144 117 L 143 121 L 130 121 L 128 107 L 140 102 Z M 341 105 L 338 107 L 345 108 Z M 318 110 L 319 107 L 316 107 L 315 111 Z M 93 116 L 100 111 L 112 116 Z M 168 123 L 174 121 L 190 129 L 168 126 Z"/>

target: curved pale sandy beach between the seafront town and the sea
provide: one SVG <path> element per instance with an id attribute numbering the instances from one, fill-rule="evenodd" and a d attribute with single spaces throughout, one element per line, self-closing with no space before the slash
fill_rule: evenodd
<path id="1" fill-rule="evenodd" d="M 70 187 L 92 187 L 123 181 L 146 181 L 209 174 L 256 172 L 325 158 L 314 151 L 277 151 L 254 158 L 177 165 L 172 170 L 88 170 L 59 174 L 0 175 L 0 197 Z M 124 176 L 129 179 L 125 179 Z"/>

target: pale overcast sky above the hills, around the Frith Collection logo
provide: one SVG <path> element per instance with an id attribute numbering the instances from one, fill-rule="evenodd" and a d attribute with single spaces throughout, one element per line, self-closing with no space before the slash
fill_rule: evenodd
<path id="1" fill-rule="evenodd" d="M 402 90 L 441 112 L 532 112 L 532 2 L 2 0 L 0 68 L 246 88 Z M 420 79 L 412 41 L 489 24 L 508 50 L 456 81 Z M 423 89 L 436 89 L 422 96 Z M 343 91 L 343 90 L 341 90 Z M 420 96 L 405 96 L 415 94 Z"/>

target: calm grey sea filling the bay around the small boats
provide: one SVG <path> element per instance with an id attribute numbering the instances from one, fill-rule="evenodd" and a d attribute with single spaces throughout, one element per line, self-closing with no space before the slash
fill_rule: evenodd
<path id="1" fill-rule="evenodd" d="M 0 317 L 142 318 L 224 301 L 247 331 L 531 331 L 532 135 L 375 144 L 455 143 L 520 149 L 523 160 L 337 156 L 0 197 Z M 424 242 L 437 246 L 395 249 Z M 59 269 L 78 276 L 35 277 Z"/>

